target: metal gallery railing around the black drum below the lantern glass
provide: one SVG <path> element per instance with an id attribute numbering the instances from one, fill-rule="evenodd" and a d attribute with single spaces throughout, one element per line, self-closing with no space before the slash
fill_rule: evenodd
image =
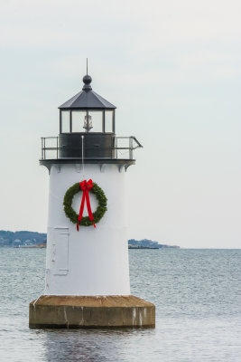
<path id="1" fill-rule="evenodd" d="M 93 145 L 95 147 L 95 145 Z M 134 149 L 142 148 L 143 146 L 134 137 L 113 137 L 112 147 L 109 148 L 111 157 L 85 157 L 85 146 L 83 149 L 84 158 L 109 158 L 109 159 L 134 159 Z M 64 159 L 64 158 L 81 158 L 82 157 L 82 144 L 79 144 L 80 157 L 62 157 L 63 151 L 66 148 L 64 145 L 60 146 L 59 137 L 43 137 L 42 138 L 42 160 L 45 159 Z M 71 153 L 71 148 L 70 148 Z"/>

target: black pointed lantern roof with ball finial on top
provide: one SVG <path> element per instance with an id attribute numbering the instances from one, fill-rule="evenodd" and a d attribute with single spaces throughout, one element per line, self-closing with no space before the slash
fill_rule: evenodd
<path id="1" fill-rule="evenodd" d="M 85 75 L 83 78 L 84 86 L 78 94 L 63 103 L 60 110 L 93 110 L 105 109 L 115 110 L 116 106 L 99 96 L 90 85 L 92 78 Z"/>

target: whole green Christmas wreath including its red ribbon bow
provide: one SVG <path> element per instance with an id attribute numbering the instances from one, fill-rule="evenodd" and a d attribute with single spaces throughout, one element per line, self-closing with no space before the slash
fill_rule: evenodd
<path id="1" fill-rule="evenodd" d="M 83 195 L 79 214 L 76 214 L 75 210 L 72 208 L 72 201 L 74 195 L 77 195 L 80 191 L 83 191 Z M 89 202 L 89 192 L 96 195 L 98 201 L 97 210 L 93 214 Z M 83 216 L 85 200 L 88 208 L 88 216 Z M 100 219 L 102 219 L 107 211 L 107 196 L 105 195 L 102 188 L 97 186 L 95 182 L 92 182 L 91 179 L 88 181 L 84 180 L 77 182 L 73 186 L 70 186 L 64 195 L 63 205 L 66 216 L 69 217 L 73 224 L 77 224 L 77 230 L 79 231 L 79 225 L 90 226 L 93 224 L 94 227 L 96 227 L 96 224 Z"/>

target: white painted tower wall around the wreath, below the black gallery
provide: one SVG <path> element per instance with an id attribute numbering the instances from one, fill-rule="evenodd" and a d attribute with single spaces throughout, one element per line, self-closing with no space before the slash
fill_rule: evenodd
<path id="1" fill-rule="evenodd" d="M 107 213 L 93 226 L 72 224 L 63 210 L 63 197 L 70 186 L 92 178 L 107 195 Z M 79 213 L 82 193 L 73 200 Z M 97 208 L 90 195 L 92 211 Z M 86 210 L 86 207 L 85 207 Z M 85 212 L 87 215 L 87 212 Z M 47 295 L 130 294 L 128 246 L 125 236 L 125 170 L 107 165 L 52 166 L 46 256 Z"/>

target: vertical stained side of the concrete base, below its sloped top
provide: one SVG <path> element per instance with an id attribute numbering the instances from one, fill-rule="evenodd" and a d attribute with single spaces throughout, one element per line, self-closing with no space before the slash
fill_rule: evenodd
<path id="1" fill-rule="evenodd" d="M 32 329 L 139 329 L 155 327 L 155 307 L 30 306 Z"/>

